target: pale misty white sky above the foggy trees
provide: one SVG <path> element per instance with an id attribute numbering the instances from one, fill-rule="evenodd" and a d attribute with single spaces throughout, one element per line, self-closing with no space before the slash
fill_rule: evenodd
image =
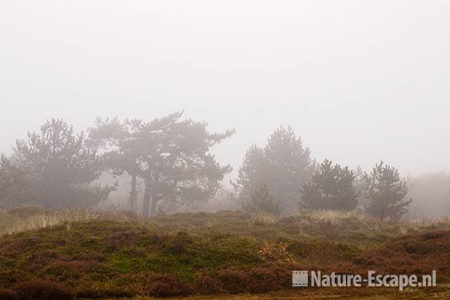
<path id="1" fill-rule="evenodd" d="M 175 110 L 246 148 L 292 125 L 313 157 L 450 171 L 450 1 L 1 1 L 0 152 L 50 117 Z"/>

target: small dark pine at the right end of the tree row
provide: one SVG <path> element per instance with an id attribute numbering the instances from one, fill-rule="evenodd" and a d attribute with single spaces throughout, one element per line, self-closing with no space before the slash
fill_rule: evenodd
<path id="1" fill-rule="evenodd" d="M 366 197 L 370 201 L 366 207 L 368 214 L 380 220 L 394 221 L 406 214 L 413 200 L 404 199 L 408 186 L 400 180 L 397 169 L 380 162 L 370 174 L 364 174 L 364 179 L 367 182 Z"/>

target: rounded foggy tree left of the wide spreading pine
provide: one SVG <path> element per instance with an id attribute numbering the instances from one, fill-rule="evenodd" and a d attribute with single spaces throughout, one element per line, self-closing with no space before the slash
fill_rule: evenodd
<path id="1" fill-rule="evenodd" d="M 47 207 L 92 206 L 114 187 L 91 186 L 101 175 L 101 159 L 62 119 L 51 119 L 38 132 L 17 141 L 13 157 L 32 190 L 27 201 Z"/>

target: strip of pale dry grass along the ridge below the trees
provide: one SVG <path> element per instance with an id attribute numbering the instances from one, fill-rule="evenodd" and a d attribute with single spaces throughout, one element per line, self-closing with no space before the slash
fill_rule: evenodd
<path id="1" fill-rule="evenodd" d="M 236 214 L 238 215 L 238 214 Z M 225 214 L 228 218 L 229 214 Z M 200 218 L 199 218 L 200 217 Z M 211 219 L 212 218 L 212 219 Z M 247 218 L 247 220 L 245 220 Z M 18 233 L 27 230 L 36 230 L 67 223 L 70 226 L 74 222 L 92 220 L 112 220 L 137 223 L 143 226 L 175 226 L 178 229 L 210 228 L 222 226 L 229 220 L 220 221 L 218 214 L 180 214 L 174 216 L 158 216 L 153 219 L 144 219 L 137 214 L 127 211 L 98 211 L 94 209 L 72 209 L 72 210 L 46 210 L 41 207 L 23 207 L 20 209 L 0 210 L 0 235 Z M 243 221 L 243 223 L 241 223 Z M 370 216 L 365 216 L 359 211 L 302 211 L 300 214 L 281 219 L 277 216 L 265 213 L 241 216 L 233 219 L 236 226 L 282 226 L 283 223 L 293 223 L 297 226 L 296 235 L 314 235 L 311 228 L 319 228 L 323 233 L 335 234 L 336 230 L 349 229 L 349 223 L 353 223 L 357 230 L 364 231 L 366 235 L 378 235 L 385 230 L 395 230 L 401 235 L 413 233 L 422 228 L 433 226 L 450 226 L 450 216 L 441 219 L 409 219 L 399 223 L 387 223 Z M 178 226 L 176 226 L 178 224 Z M 347 228 L 347 229 L 346 229 Z"/>

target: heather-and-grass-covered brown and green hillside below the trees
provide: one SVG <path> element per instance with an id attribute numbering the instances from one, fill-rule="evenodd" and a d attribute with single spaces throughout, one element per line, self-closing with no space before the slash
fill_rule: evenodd
<path id="1" fill-rule="evenodd" d="M 317 293 L 343 292 L 293 290 L 292 270 L 436 269 L 439 283 L 450 279 L 447 219 L 382 223 L 334 211 L 280 220 L 231 211 L 153 219 L 30 208 L 1 214 L 2 222 L 8 221 L 1 231 L 10 234 L 0 238 L 0 299 L 39 299 L 39 293 L 101 299 L 276 291 L 314 299 Z M 386 299 L 402 296 L 383 291 Z"/>

